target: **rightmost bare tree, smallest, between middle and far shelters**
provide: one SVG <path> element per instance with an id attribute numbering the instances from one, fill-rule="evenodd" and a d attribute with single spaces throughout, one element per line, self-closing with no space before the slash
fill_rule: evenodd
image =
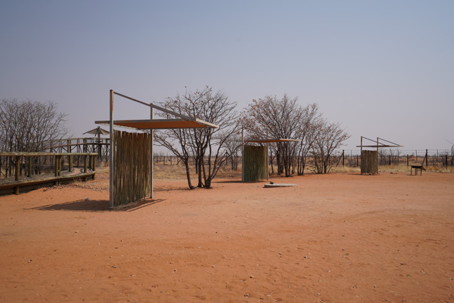
<path id="1" fill-rule="evenodd" d="M 327 174 L 331 170 L 335 163 L 334 160 L 330 160 L 334 150 L 349 137 L 349 134 L 340 128 L 340 123 L 328 123 L 326 120 L 321 122 L 312 148 L 317 174 Z"/>

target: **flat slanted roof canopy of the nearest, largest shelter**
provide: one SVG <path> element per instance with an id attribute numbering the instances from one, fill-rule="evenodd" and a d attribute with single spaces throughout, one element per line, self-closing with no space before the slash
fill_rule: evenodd
<path id="1" fill-rule="evenodd" d="M 109 125 L 110 121 L 95 121 L 96 124 Z M 218 128 L 219 126 L 202 121 L 197 118 L 191 119 L 148 119 L 148 120 L 117 120 L 115 126 L 133 129 L 173 129 L 173 128 Z"/>

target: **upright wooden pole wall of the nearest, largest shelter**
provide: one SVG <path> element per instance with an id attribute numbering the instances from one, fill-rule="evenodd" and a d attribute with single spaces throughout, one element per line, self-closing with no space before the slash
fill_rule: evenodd
<path id="1" fill-rule="evenodd" d="M 151 195 L 150 134 L 115 131 L 114 206 Z"/>

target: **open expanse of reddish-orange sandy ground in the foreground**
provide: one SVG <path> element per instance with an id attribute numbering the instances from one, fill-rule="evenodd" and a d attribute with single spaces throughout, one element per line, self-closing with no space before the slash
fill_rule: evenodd
<path id="1" fill-rule="evenodd" d="M 272 180 L 0 197 L 0 301 L 454 302 L 454 174 Z"/>

